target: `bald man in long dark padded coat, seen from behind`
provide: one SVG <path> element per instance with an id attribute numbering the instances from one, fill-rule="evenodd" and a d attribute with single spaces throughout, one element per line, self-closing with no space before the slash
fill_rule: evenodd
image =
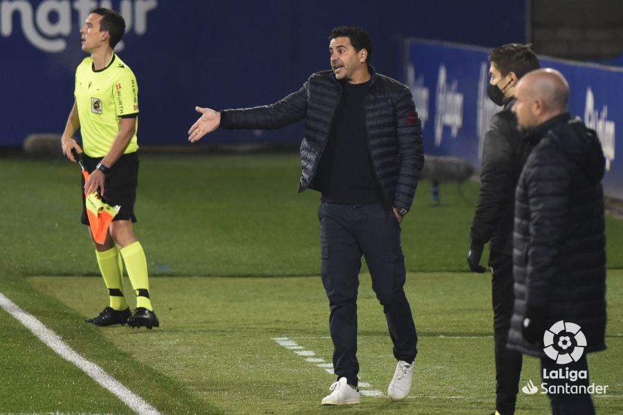
<path id="1" fill-rule="evenodd" d="M 566 111 L 569 86 L 558 71 L 528 73 L 515 96 L 534 149 L 516 190 L 508 347 L 541 358 L 553 414 L 595 414 L 586 353 L 606 348 L 602 146 Z M 577 379 L 552 378 L 560 371 Z"/>

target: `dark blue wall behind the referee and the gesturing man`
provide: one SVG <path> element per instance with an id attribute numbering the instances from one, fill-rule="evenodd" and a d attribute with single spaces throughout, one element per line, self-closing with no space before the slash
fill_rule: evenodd
<path id="1" fill-rule="evenodd" d="M 49 11 L 53 3 L 62 12 Z M 19 146 L 29 133 L 64 128 L 75 67 L 85 56 L 78 10 L 100 2 L 53 3 L 0 1 L 1 146 Z M 125 13 L 132 27 L 119 55 L 138 77 L 143 145 L 186 145 L 186 131 L 197 118 L 195 105 L 249 107 L 300 88 L 310 73 L 329 67 L 327 35 L 334 26 L 363 26 L 372 36 L 377 71 L 403 81 L 408 37 L 487 47 L 526 39 L 525 2 L 516 0 L 101 3 L 132 11 Z M 136 19 L 141 9 L 148 10 L 145 21 Z M 41 50 L 26 38 L 28 30 L 47 42 L 62 40 L 66 47 Z M 218 131 L 210 142 L 298 142 L 302 131 L 300 125 L 270 132 Z"/>

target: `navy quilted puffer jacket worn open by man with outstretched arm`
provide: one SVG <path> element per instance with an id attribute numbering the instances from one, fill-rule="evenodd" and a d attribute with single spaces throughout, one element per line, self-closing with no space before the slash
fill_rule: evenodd
<path id="1" fill-rule="evenodd" d="M 409 209 L 424 167 L 422 123 L 407 86 L 377 73 L 365 98 L 365 127 L 374 175 L 388 205 Z M 225 129 L 278 129 L 305 118 L 300 145 L 302 173 L 298 191 L 318 190 L 318 173 L 341 85 L 332 71 L 314 73 L 303 87 L 275 104 L 221 112 Z"/>

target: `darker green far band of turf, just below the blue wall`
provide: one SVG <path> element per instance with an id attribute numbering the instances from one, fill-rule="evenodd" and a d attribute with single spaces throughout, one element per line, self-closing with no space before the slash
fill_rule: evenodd
<path id="1" fill-rule="evenodd" d="M 136 233 L 153 275 L 317 275 L 317 192 L 296 194 L 296 154 L 143 155 Z M 0 269 L 97 275 L 81 226 L 80 172 L 66 161 L 0 158 Z M 403 223 L 409 270 L 467 270 L 478 185 L 419 185 Z M 623 221 L 608 217 L 608 267 L 623 268 Z M 62 247 L 62 250 L 59 248 Z M 35 258 L 36 260 L 33 260 Z"/>

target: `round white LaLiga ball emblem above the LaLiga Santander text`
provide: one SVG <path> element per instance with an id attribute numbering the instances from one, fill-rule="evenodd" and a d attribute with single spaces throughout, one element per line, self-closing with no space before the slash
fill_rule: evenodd
<path id="1" fill-rule="evenodd" d="M 556 360 L 559 365 L 566 365 L 582 357 L 586 337 L 577 324 L 560 320 L 543 333 L 543 346 L 550 359 Z"/>

